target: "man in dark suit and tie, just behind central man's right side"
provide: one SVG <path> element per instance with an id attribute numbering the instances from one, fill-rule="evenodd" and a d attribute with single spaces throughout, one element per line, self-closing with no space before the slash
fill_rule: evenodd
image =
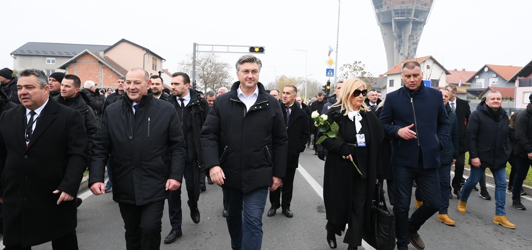
<path id="1" fill-rule="evenodd" d="M 268 216 L 275 215 L 279 207 L 282 207 L 282 213 L 288 218 L 294 216 L 292 211 L 290 211 L 292 191 L 294 190 L 294 176 L 299 161 L 299 154 L 305 151 L 306 141 L 310 137 L 309 118 L 305 111 L 295 103 L 296 97 L 297 88 L 294 85 L 287 85 L 282 90 L 281 110 L 285 117 L 286 132 L 288 134 L 286 174 L 282 180 L 282 188 L 270 191 L 271 208 L 268 210 Z M 282 203 L 279 203 L 281 193 Z"/>

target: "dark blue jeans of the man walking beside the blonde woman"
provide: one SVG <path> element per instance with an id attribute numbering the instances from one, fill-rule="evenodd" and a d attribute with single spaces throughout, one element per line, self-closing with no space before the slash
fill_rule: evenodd
<path id="1" fill-rule="evenodd" d="M 414 180 L 423 197 L 423 205 L 408 218 Z M 394 184 L 395 236 L 397 246 L 406 247 L 410 243 L 408 232 L 417 232 L 441 206 L 438 169 L 423 168 L 422 159 L 419 159 L 417 168 L 394 166 Z"/>

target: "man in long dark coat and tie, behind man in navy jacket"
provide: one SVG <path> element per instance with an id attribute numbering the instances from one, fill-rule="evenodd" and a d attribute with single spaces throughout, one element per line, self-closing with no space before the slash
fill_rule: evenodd
<path id="1" fill-rule="evenodd" d="M 456 113 L 458 120 L 458 158 L 454 164 L 454 178 L 451 183 L 456 197 L 460 198 L 462 185 L 464 183 L 463 173 L 465 164 L 465 152 L 468 152 L 467 140 L 465 139 L 465 126 L 469 121 L 471 109 L 469 103 L 456 97 L 456 86 L 447 85 L 445 88 L 449 90 L 449 106 Z"/>

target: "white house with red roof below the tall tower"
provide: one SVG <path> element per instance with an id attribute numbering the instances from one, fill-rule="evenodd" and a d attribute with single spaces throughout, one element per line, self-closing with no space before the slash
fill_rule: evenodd
<path id="1" fill-rule="evenodd" d="M 387 80 L 386 93 L 395 91 L 402 84 L 401 69 L 406 62 L 416 61 L 421 65 L 421 72 L 423 72 L 423 80 L 430 80 L 431 87 L 445 87 L 447 84 L 446 77 L 451 74 L 442 64 L 440 64 L 433 56 L 423 56 L 414 59 L 403 60 L 395 64 L 391 69 L 384 73 Z"/>

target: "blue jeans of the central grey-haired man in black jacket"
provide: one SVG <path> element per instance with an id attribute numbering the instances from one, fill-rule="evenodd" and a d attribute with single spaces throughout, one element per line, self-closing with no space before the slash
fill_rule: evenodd
<path id="1" fill-rule="evenodd" d="M 268 197 L 268 188 L 250 193 L 222 187 L 226 200 L 227 229 L 231 236 L 231 248 L 260 250 L 262 247 L 262 214 Z"/>

